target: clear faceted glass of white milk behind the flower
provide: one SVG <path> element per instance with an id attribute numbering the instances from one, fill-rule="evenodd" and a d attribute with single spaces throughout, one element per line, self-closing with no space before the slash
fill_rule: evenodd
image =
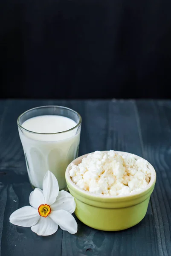
<path id="1" fill-rule="evenodd" d="M 42 189 L 50 170 L 59 189 L 66 189 L 65 170 L 78 157 L 81 116 L 70 108 L 42 106 L 22 113 L 17 125 L 32 186 Z"/>

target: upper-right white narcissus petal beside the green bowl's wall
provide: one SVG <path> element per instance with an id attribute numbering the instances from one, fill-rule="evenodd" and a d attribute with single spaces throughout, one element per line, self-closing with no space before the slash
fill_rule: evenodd
<path id="1" fill-rule="evenodd" d="M 75 211 L 75 207 L 74 197 L 64 190 L 59 191 L 55 203 L 51 205 L 52 211 L 65 210 L 70 213 Z"/>

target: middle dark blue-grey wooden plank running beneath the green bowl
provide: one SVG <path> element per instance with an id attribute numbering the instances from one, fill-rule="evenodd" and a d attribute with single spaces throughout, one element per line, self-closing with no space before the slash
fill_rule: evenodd
<path id="1" fill-rule="evenodd" d="M 81 152 L 115 149 L 142 155 L 133 101 L 86 101 L 79 112 L 85 123 Z M 63 232 L 62 256 L 159 255 L 151 204 L 141 223 L 121 232 L 94 230 L 77 221 L 77 234 Z"/>

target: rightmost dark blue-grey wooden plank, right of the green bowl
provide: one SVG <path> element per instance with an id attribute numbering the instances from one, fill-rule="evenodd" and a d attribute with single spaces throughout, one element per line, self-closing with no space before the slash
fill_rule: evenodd
<path id="1" fill-rule="evenodd" d="M 159 255 L 171 255 L 171 101 L 137 101 L 144 157 L 157 172 L 151 196 Z"/>

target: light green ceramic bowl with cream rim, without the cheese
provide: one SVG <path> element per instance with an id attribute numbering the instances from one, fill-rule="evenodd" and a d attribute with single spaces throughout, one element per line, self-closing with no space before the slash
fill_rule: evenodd
<path id="1" fill-rule="evenodd" d="M 130 154 L 127 152 L 116 152 Z M 82 158 L 86 156 L 87 154 L 78 157 L 72 163 L 78 165 L 81 163 Z M 136 155 L 135 157 L 136 159 L 142 158 Z M 75 198 L 75 215 L 87 226 L 98 230 L 124 230 L 138 224 L 145 217 L 150 196 L 156 183 L 156 172 L 150 163 L 148 168 L 151 169 L 151 180 L 145 189 L 126 196 L 105 196 L 94 195 L 76 186 L 70 178 L 69 165 L 65 177 L 67 187 Z"/>

